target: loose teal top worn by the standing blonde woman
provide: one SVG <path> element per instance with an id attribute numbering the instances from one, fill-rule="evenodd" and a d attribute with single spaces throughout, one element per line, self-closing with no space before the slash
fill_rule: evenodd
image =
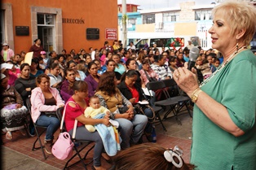
<path id="1" fill-rule="evenodd" d="M 191 163 L 200 170 L 256 169 L 256 56 L 236 54 L 201 89 L 227 107 L 232 121 L 245 134 L 235 137 L 194 107 Z"/>

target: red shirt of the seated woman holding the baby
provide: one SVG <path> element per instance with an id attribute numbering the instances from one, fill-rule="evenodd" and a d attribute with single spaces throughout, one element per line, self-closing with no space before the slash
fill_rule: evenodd
<path id="1" fill-rule="evenodd" d="M 74 99 L 71 97 L 68 99 L 68 101 L 74 101 Z M 68 102 L 67 102 L 68 103 Z M 66 103 L 66 105 L 67 105 Z M 88 106 L 88 102 L 86 100 L 86 104 Z M 69 105 L 65 106 L 66 107 L 66 115 L 64 117 L 64 121 L 65 121 L 65 125 L 66 125 L 66 129 L 69 132 L 71 129 L 73 129 L 73 125 L 75 123 L 75 119 L 78 116 L 81 116 L 84 114 L 84 111 L 86 109 L 80 107 L 77 103 L 76 103 L 76 107 L 70 107 Z M 84 124 L 82 124 L 81 122 L 77 122 L 77 127 L 82 126 Z"/>

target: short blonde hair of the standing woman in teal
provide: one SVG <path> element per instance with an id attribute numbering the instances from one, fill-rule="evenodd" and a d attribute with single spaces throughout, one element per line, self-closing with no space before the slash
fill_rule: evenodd
<path id="1" fill-rule="evenodd" d="M 212 13 L 221 13 L 228 20 L 231 25 L 231 34 L 245 29 L 245 34 L 241 37 L 246 46 L 252 40 L 256 30 L 256 8 L 249 2 L 241 2 L 234 0 L 227 0 L 222 2 L 217 7 L 214 7 Z"/>

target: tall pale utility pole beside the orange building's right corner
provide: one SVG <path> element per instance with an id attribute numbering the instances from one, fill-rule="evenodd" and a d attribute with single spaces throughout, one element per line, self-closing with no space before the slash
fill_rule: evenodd
<path id="1" fill-rule="evenodd" d="M 121 0 L 121 22 L 122 22 L 122 45 L 124 48 L 127 46 L 127 28 L 126 28 L 126 20 L 127 20 L 127 15 L 126 15 L 126 0 Z"/>

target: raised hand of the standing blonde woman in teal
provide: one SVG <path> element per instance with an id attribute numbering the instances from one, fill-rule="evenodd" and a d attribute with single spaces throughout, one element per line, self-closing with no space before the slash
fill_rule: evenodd
<path id="1" fill-rule="evenodd" d="M 191 96 L 193 91 L 199 86 L 196 74 L 193 73 L 195 71 L 196 69 L 192 69 L 192 72 L 190 72 L 187 68 L 174 70 L 174 81 L 188 96 Z"/>

